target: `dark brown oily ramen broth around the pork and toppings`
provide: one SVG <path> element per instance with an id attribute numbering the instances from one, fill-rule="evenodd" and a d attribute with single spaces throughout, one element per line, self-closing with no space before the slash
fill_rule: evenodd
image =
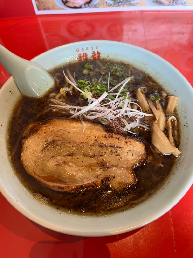
<path id="1" fill-rule="evenodd" d="M 89 62 L 93 66 L 91 71 L 94 71 L 96 68 L 101 69 L 101 67 L 104 67 L 105 64 L 110 61 L 98 60 L 96 62 L 94 60 L 90 60 Z M 120 65 L 120 63 L 116 63 L 114 61 L 112 62 L 116 65 Z M 83 75 L 82 73 L 85 63 L 86 62 L 70 63 L 64 66 L 64 71 L 66 73 L 66 69 L 68 69 L 76 79 L 92 80 L 92 73 L 92 75 Z M 121 63 L 121 65 L 123 64 Z M 135 82 L 133 85 L 131 84 L 131 91 L 134 92 L 135 96 L 135 90 L 133 89 L 136 86 L 138 87 L 141 85 L 142 72 L 131 67 L 129 64 L 124 66 L 126 66 L 126 69 L 128 70 L 125 78 L 128 76 L 135 77 Z M 10 121 L 8 138 L 9 152 L 16 175 L 20 178 L 22 184 L 24 184 L 29 191 L 32 192 L 33 196 L 41 202 L 69 213 L 94 215 L 120 212 L 133 207 L 136 203 L 144 200 L 146 197 L 148 198 L 148 196 L 153 193 L 155 189 L 161 186 L 163 181 L 172 171 L 172 167 L 175 164 L 175 158 L 173 158 L 171 155 L 166 155 L 164 157 L 157 156 L 151 162 L 146 162 L 145 165 L 139 166 L 137 169 L 135 169 L 138 182 L 134 185 L 127 186 L 120 191 L 103 191 L 101 189 L 80 191 L 78 193 L 54 191 L 44 186 L 25 171 L 20 159 L 22 134 L 25 127 L 29 123 L 37 120 L 42 121 L 58 116 L 60 116 L 60 118 L 68 117 L 68 114 L 63 116 L 63 114 L 60 112 L 55 113 L 52 111 L 42 114 L 42 110 L 48 104 L 50 93 L 58 93 L 59 89 L 64 87 L 66 84 L 61 67 L 51 71 L 51 74 L 56 81 L 55 88 L 43 98 L 22 96 L 15 107 Z M 101 75 L 99 74 L 99 76 Z M 137 77 L 138 79 L 136 79 Z M 124 79 L 124 76 L 122 76 L 121 79 Z M 158 92 L 163 90 L 163 88 L 147 74 L 145 75 L 145 78 L 143 78 L 143 83 L 144 81 L 148 87 L 148 91 L 150 92 L 152 91 L 152 88 L 156 88 Z M 79 94 L 74 92 L 74 94 L 69 95 L 67 101 L 68 103 L 72 104 L 76 103 L 78 99 Z M 150 148 L 150 131 L 139 130 L 137 137 L 143 138 L 146 141 L 148 155 L 154 156 L 152 149 Z M 159 167 L 156 166 L 156 162 L 158 161 L 161 164 Z"/>

